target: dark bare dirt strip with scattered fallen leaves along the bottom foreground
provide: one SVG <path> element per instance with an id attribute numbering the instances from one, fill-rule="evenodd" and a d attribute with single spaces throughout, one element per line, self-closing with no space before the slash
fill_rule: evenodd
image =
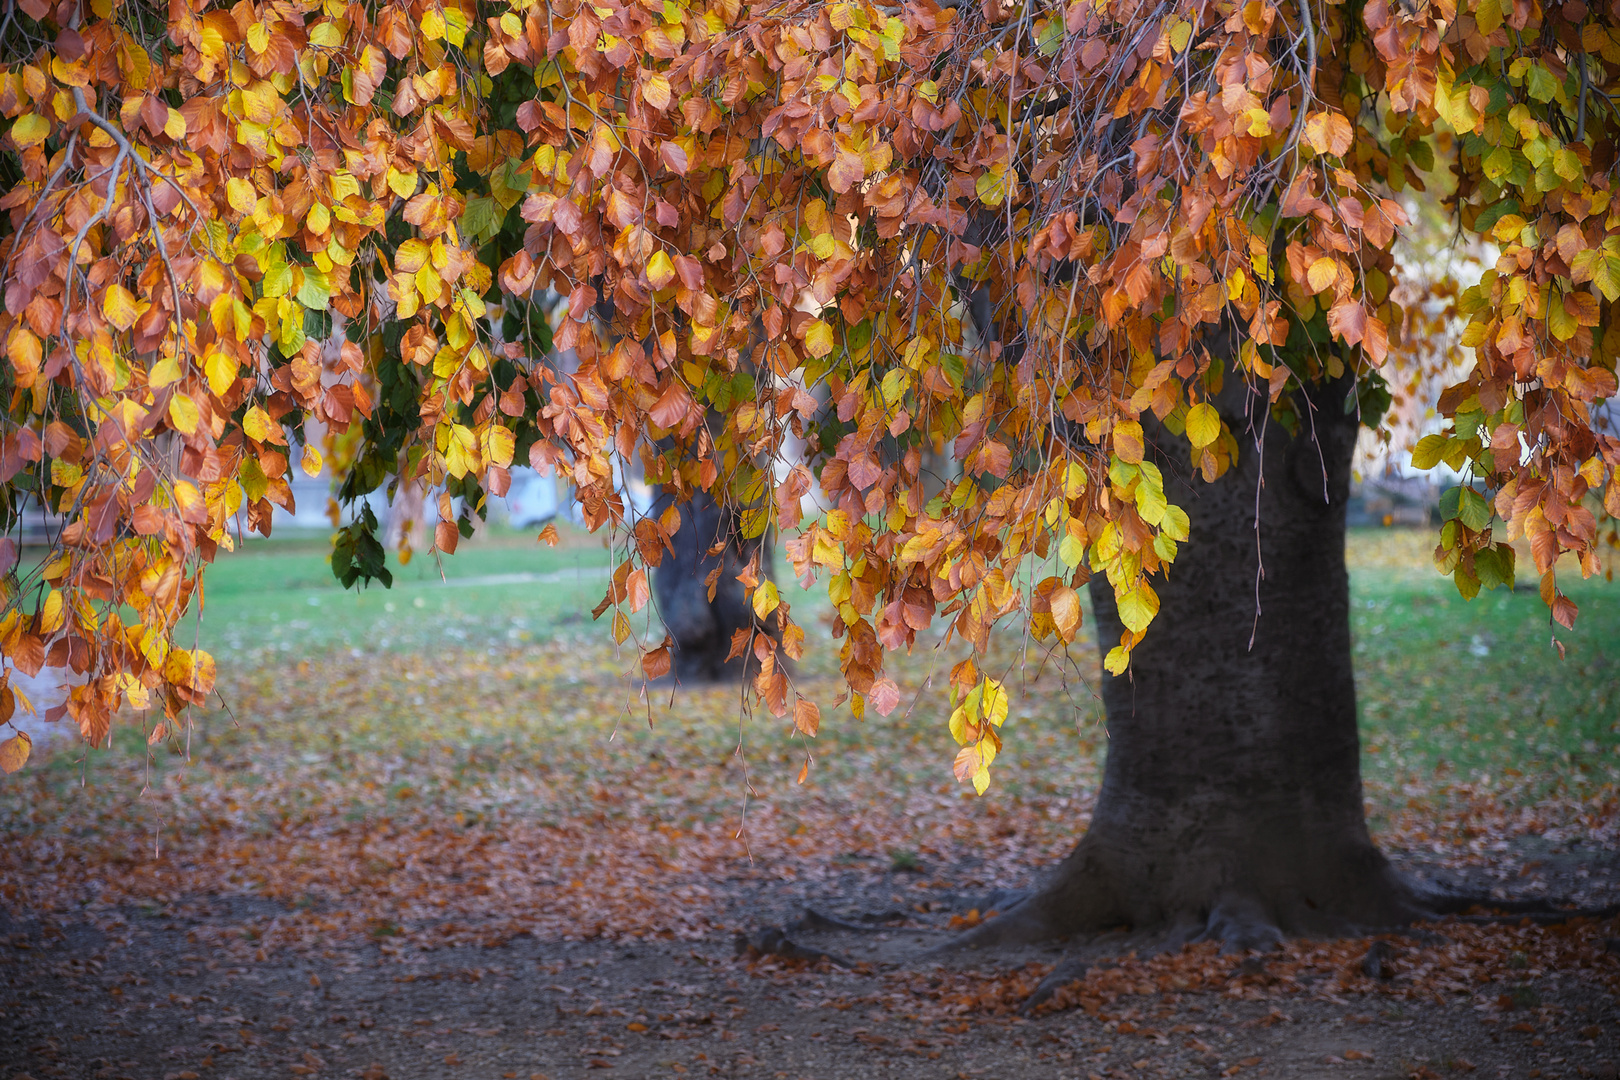
<path id="1" fill-rule="evenodd" d="M 1592 853 L 1565 866 L 1591 879 Z M 1581 874 L 1581 871 L 1586 871 Z M 855 884 L 844 881 L 841 884 Z M 893 873 L 823 897 L 825 912 L 896 913 Z M 1557 882 L 1554 882 L 1557 884 Z M 899 889 L 899 891 L 896 891 Z M 437 1077 L 1615 1077 L 1620 925 L 1575 929 L 1440 925 L 1390 944 L 1273 957 L 1210 950 L 1092 962 L 1068 1007 L 1013 1012 L 1056 950 L 953 959 L 925 952 L 969 897 L 857 933 L 794 941 L 855 963 L 739 955 L 729 939 L 539 941 L 421 949 L 387 939 L 267 955 L 285 908 L 253 899 L 100 908 L 0 923 L 0 1080 Z M 797 897 L 732 897 L 781 920 Z M 917 907 L 932 910 L 920 912 Z M 748 925 L 739 918 L 739 925 Z M 758 926 L 758 920 L 752 921 Z M 975 972 L 982 970 L 983 975 Z"/>

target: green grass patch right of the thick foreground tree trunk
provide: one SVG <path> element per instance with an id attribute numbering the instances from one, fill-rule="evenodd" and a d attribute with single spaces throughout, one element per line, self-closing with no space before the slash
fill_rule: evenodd
<path id="1" fill-rule="evenodd" d="M 1427 534 L 1351 538 L 1351 627 L 1371 779 L 1614 780 L 1620 769 L 1620 585 L 1560 575 L 1575 630 L 1536 591 L 1463 601 L 1424 567 Z M 1388 551 L 1396 547 L 1395 557 Z M 1558 659 L 1554 630 L 1565 644 Z"/>

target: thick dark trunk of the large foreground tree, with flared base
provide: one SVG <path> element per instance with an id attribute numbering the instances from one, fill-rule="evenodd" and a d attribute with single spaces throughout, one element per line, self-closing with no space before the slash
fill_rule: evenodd
<path id="1" fill-rule="evenodd" d="M 1299 434 L 1228 377 L 1217 408 L 1241 447 L 1213 484 L 1160 431 L 1166 494 L 1192 536 L 1131 669 L 1103 675 L 1108 759 L 1090 829 L 972 944 L 1128 925 L 1170 944 L 1268 947 L 1281 934 L 1387 928 L 1429 913 L 1362 814 L 1345 502 L 1349 381 L 1296 397 Z M 1118 643 L 1092 583 L 1097 638 Z M 1252 641 L 1251 641 L 1252 635 Z"/>

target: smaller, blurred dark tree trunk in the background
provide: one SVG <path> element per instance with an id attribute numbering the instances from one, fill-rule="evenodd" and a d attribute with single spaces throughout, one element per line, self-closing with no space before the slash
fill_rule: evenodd
<path id="1" fill-rule="evenodd" d="M 663 513 L 671 495 L 659 491 L 653 517 Z M 680 504 L 680 528 L 672 539 L 674 552 L 653 570 L 653 594 L 664 628 L 676 640 L 671 649 L 677 682 L 698 683 L 742 678 L 752 669 L 752 654 L 727 661 L 731 638 L 737 630 L 758 627 L 748 597 L 737 575 L 758 554 L 760 580 L 771 576 L 773 544 L 770 534 L 744 539 L 737 515 L 714 502 L 708 492 L 697 492 Z M 721 546 L 718 554 L 710 554 Z M 714 597 L 710 599 L 708 576 L 719 568 Z"/>

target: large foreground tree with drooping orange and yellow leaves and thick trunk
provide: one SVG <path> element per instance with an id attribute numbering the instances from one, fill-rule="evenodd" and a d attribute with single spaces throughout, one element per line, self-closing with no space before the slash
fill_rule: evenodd
<path id="1" fill-rule="evenodd" d="M 944 620 L 980 792 L 1009 695 L 991 630 L 1063 648 L 1089 585 L 1097 823 L 987 938 L 1403 918 L 1426 900 L 1359 816 L 1341 495 L 1351 421 L 1426 355 L 1392 244 L 1430 186 L 1500 248 L 1414 455 L 1463 476 L 1440 570 L 1508 583 L 1526 538 L 1570 627 L 1558 555 L 1594 573 L 1615 538 L 1592 410 L 1620 350 L 1617 8 L 21 0 L 0 44 L 0 483 L 66 521 L 13 567 L 0 646 L 92 675 L 65 706 L 92 742 L 123 703 L 160 704 L 162 737 L 206 698 L 180 620 L 228 521 L 267 531 L 290 499 L 306 418 L 343 497 L 403 478 L 476 513 L 526 460 L 620 531 L 609 455 L 640 453 L 742 541 L 791 534 L 857 716 L 899 704 L 886 654 Z M 808 460 L 778 478 L 789 437 Z M 935 492 L 941 447 L 962 473 Z M 816 481 L 831 510 L 804 521 Z M 679 523 L 635 523 L 604 612 L 648 602 Z M 382 573 L 374 523 L 334 570 Z M 744 588 L 771 633 L 734 651 L 813 735 L 779 662 L 804 631 Z M 638 643 L 648 675 L 669 644 Z"/>

